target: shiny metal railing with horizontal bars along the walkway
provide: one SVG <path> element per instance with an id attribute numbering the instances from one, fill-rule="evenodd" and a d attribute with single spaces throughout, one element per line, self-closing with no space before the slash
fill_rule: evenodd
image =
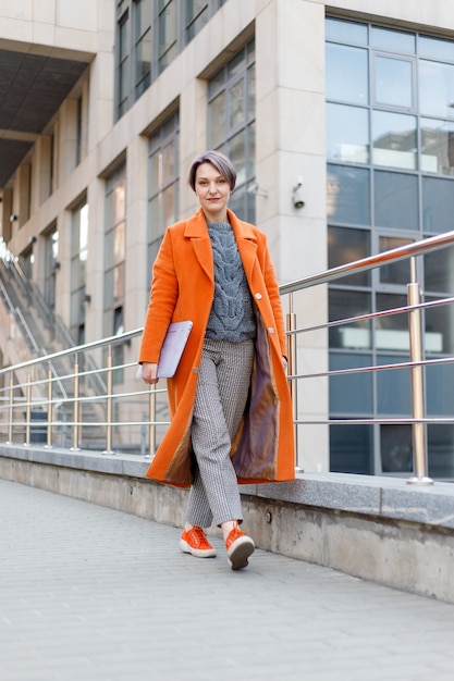
<path id="1" fill-rule="evenodd" d="M 453 362 L 454 357 L 443 356 L 425 359 L 421 311 L 425 308 L 449 305 L 454 298 L 443 297 L 428 302 L 420 301 L 420 288 L 416 278 L 416 258 L 425 253 L 454 245 L 454 232 L 424 239 L 370 258 L 357 260 L 326 272 L 290 282 L 280 287 L 286 310 L 289 344 L 289 382 L 294 409 L 295 441 L 298 444 L 298 429 L 302 425 L 318 424 L 329 428 L 335 423 L 400 423 L 410 424 L 413 432 L 414 475 L 409 483 L 431 484 L 428 474 L 426 426 L 428 423 L 454 423 L 452 418 L 434 419 L 426 416 L 424 372 L 434 363 Z M 331 284 L 342 277 L 380 268 L 384 264 L 409 259 L 410 282 L 407 284 L 405 307 L 380 310 L 358 317 L 334 321 L 323 321 L 317 325 L 298 326 L 295 312 L 295 296 L 320 285 Z M 409 360 L 389 364 L 357 367 L 351 369 L 321 370 L 298 373 L 298 357 L 304 334 L 317 331 L 328 332 L 335 326 L 371 321 L 393 314 L 408 315 Z M 13 445 L 25 447 L 41 444 L 47 448 L 63 447 L 70 451 L 95 449 L 112 455 L 115 451 L 152 456 L 169 424 L 165 386 L 158 384 L 151 388 L 135 380 L 136 361 L 115 363 L 113 352 L 116 346 L 131 350 L 132 340 L 142 334 L 142 329 L 103 338 L 98 342 L 72 347 L 45 357 L 0 370 L 0 437 Z M 329 348 L 327 346 L 327 354 Z M 103 355 L 101 368 L 96 368 L 91 355 Z M 72 371 L 56 375 L 56 360 L 71 358 Z M 98 362 L 99 363 L 99 362 Z M 68 361 L 62 366 L 69 366 Z M 298 387 L 308 379 L 363 372 L 381 372 L 390 369 L 407 369 L 410 373 L 412 417 L 401 419 L 309 419 L 299 414 Z M 106 392 L 90 393 L 94 374 L 98 384 L 106 385 Z M 1 387 L 2 386 L 2 387 Z M 58 386 L 58 389 L 56 389 Z M 298 447 L 297 447 L 298 448 Z M 305 461 L 295 461 L 298 467 Z"/>

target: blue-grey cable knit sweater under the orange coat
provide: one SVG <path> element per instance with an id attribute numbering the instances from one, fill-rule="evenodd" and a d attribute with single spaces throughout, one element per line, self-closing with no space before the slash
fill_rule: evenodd
<path id="1" fill-rule="evenodd" d="M 214 262 L 214 299 L 207 337 L 240 343 L 256 335 L 253 298 L 229 223 L 208 223 Z"/>

